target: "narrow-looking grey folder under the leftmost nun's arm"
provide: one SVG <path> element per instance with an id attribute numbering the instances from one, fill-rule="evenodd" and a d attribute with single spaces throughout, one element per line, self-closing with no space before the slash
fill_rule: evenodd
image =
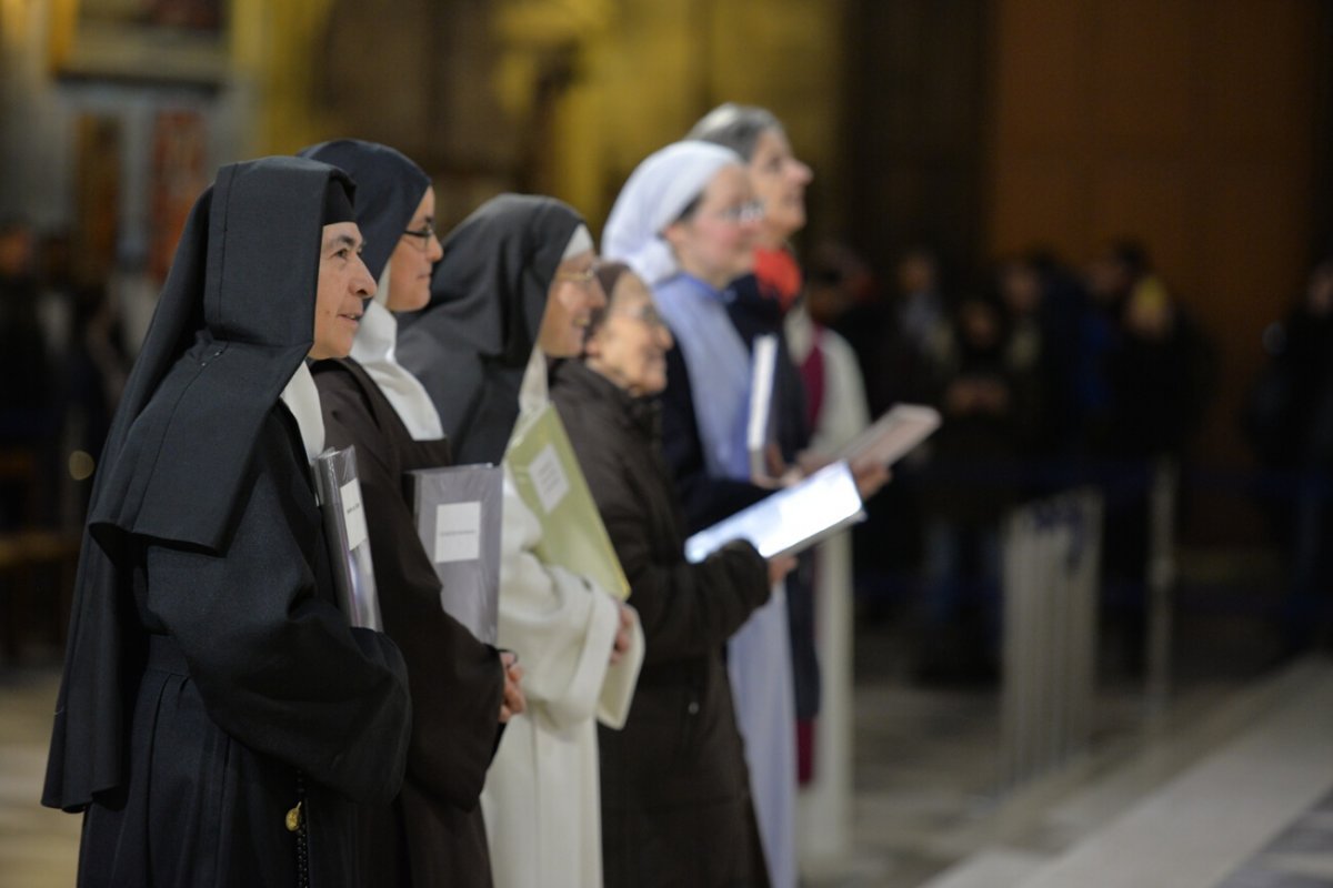
<path id="1" fill-rule="evenodd" d="M 371 538 L 361 507 L 361 482 L 356 475 L 356 447 L 329 447 L 316 457 L 315 486 L 324 514 L 339 607 L 352 626 L 383 631 Z"/>

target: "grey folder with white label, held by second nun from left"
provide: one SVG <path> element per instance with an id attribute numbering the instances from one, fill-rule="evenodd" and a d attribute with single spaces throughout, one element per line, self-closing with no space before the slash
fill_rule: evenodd
<path id="1" fill-rule="evenodd" d="M 500 620 L 500 518 L 504 470 L 491 463 L 408 473 L 417 535 L 440 578 L 440 606 L 479 642 Z"/>

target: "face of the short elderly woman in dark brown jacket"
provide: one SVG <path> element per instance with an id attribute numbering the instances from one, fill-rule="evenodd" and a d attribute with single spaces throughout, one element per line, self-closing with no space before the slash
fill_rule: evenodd
<path id="1" fill-rule="evenodd" d="M 632 395 L 657 394 L 666 387 L 670 346 L 670 332 L 648 285 L 624 272 L 616 280 L 607 317 L 588 338 L 588 366 Z"/>

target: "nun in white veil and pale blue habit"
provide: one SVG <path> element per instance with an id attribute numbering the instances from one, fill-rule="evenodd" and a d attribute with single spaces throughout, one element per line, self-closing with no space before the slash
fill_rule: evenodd
<path id="1" fill-rule="evenodd" d="M 754 264 L 762 209 L 741 157 L 681 141 L 629 176 L 607 221 L 607 257 L 653 288 L 676 347 L 666 355 L 663 447 L 686 533 L 770 493 L 750 475 L 750 353 L 728 316 L 732 281 Z M 728 671 L 772 884 L 796 885 L 796 744 L 786 594 L 774 582 L 728 643 Z"/>

